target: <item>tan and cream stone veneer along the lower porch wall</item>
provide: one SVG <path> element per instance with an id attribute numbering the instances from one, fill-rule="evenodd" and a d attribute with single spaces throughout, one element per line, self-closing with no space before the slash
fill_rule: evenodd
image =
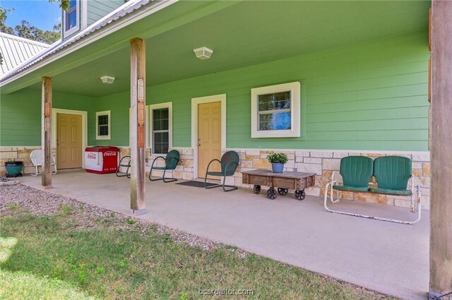
<path id="1" fill-rule="evenodd" d="M 8 160 L 20 160 L 24 162 L 25 174 L 35 172 L 30 161 L 30 152 L 40 147 L 0 147 L 0 176 L 5 176 L 6 170 L 4 162 Z M 129 148 L 119 148 L 119 156 L 129 155 Z M 174 176 L 177 179 L 193 179 L 194 150 L 192 148 L 173 148 L 181 153 L 181 160 L 174 171 L 167 172 L 167 176 Z M 242 170 L 269 169 L 271 164 L 266 157 L 271 150 L 258 149 L 227 149 L 239 153 L 240 167 L 232 177 L 227 177 L 227 184 L 235 184 L 251 188 L 252 186 L 242 184 Z M 416 184 L 421 186 L 422 208 L 430 207 L 430 155 L 429 152 L 365 152 L 365 151 L 333 151 L 333 150 L 275 150 L 284 152 L 289 157 L 289 162 L 285 164 L 286 171 L 312 172 L 316 173 L 316 185 L 307 188 L 307 195 L 323 196 L 325 185 L 330 181 L 333 171 L 338 171 L 340 159 L 349 155 L 365 155 L 372 158 L 384 155 L 400 155 L 409 157 L 412 160 L 412 173 L 416 177 Z M 52 154 L 56 157 L 56 149 L 52 148 Z M 149 174 L 150 165 L 155 157 L 150 149 L 146 150 L 146 174 Z M 161 167 L 163 161 L 160 160 L 157 166 Z M 123 170 L 124 171 L 124 170 Z M 161 176 L 161 171 L 154 171 L 153 175 Z M 374 184 L 372 179 L 371 184 Z M 386 205 L 396 205 L 408 207 L 410 198 L 406 196 L 383 195 L 376 193 L 343 192 L 343 199 L 366 201 L 371 203 L 383 203 Z"/>

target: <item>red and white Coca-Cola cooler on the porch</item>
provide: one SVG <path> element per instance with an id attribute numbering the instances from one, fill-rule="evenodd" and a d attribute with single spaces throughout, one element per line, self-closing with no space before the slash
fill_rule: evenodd
<path id="1" fill-rule="evenodd" d="M 86 172 L 114 173 L 118 167 L 119 149 L 111 146 L 95 146 L 85 149 Z"/>

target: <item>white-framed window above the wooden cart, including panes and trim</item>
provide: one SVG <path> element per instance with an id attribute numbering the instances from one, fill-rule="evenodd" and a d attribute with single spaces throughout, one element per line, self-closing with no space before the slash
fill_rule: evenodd
<path id="1" fill-rule="evenodd" d="M 300 83 L 251 89 L 251 138 L 300 136 Z"/>

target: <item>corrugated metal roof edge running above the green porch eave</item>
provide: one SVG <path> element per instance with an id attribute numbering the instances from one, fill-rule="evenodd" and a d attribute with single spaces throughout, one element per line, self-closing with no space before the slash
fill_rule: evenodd
<path id="1" fill-rule="evenodd" d="M 173 0 L 174 1 L 174 0 Z M 137 11 L 140 8 L 143 8 L 144 6 L 154 2 L 155 4 L 161 4 L 165 2 L 171 2 L 171 0 L 129 0 L 122 6 L 119 6 L 119 8 L 115 9 L 111 13 L 109 13 L 104 18 L 101 18 L 100 20 L 97 20 L 96 23 L 93 25 L 88 26 L 87 28 L 81 30 L 81 32 L 78 32 L 73 37 L 70 37 L 67 40 L 64 40 L 60 43 L 52 44 L 52 47 L 49 47 L 44 52 L 41 52 L 39 55 L 33 57 L 32 59 L 29 59 L 28 61 L 25 61 L 25 63 L 20 64 L 20 66 L 17 66 L 12 71 L 7 73 L 5 76 L 0 77 L 0 82 L 11 78 L 13 76 L 16 76 L 16 74 L 20 73 L 20 71 L 25 70 L 26 68 L 29 68 L 30 66 L 33 66 L 34 64 L 37 64 L 39 61 L 42 61 L 47 56 L 51 56 L 52 54 L 55 54 L 59 52 L 61 49 L 65 49 L 71 44 L 74 44 L 78 42 L 79 40 L 82 40 L 84 37 L 92 34 L 93 32 L 100 30 L 104 28 L 105 26 L 109 25 L 110 23 L 119 20 L 120 18 L 123 18 L 124 16 L 127 16 L 134 11 Z"/>

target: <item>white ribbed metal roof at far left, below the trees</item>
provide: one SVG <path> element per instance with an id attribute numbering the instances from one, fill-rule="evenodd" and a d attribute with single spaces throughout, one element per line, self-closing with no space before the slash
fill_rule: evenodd
<path id="1" fill-rule="evenodd" d="M 0 32 L 0 54 L 2 59 L 0 77 L 49 47 L 50 45 L 48 44 Z"/>

